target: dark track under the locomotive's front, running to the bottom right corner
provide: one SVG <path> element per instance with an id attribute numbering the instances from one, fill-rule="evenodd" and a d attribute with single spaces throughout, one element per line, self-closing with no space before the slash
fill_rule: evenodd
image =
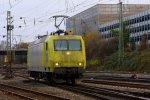
<path id="1" fill-rule="evenodd" d="M 99 87 L 85 85 L 59 85 L 57 87 L 102 100 L 148 100 L 148 98 L 145 97 Z"/>

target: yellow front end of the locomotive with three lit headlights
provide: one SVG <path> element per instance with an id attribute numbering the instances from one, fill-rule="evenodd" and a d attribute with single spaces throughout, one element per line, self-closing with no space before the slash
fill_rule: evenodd
<path id="1" fill-rule="evenodd" d="M 85 46 L 81 36 L 54 39 L 54 73 L 64 79 L 82 76 L 86 67 Z"/>

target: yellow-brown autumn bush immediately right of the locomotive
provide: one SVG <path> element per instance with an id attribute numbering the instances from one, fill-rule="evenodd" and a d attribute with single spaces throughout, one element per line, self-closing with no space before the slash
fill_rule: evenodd
<path id="1" fill-rule="evenodd" d="M 118 39 L 101 39 L 98 33 L 88 33 L 84 38 L 87 54 L 87 66 L 100 66 L 104 63 L 106 56 L 118 50 Z"/>

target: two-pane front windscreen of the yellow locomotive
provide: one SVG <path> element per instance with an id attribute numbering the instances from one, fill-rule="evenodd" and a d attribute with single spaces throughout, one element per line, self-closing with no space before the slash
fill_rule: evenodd
<path id="1" fill-rule="evenodd" d="M 81 51 L 81 41 L 80 40 L 54 40 L 54 48 L 56 51 L 61 50 L 75 50 Z"/>

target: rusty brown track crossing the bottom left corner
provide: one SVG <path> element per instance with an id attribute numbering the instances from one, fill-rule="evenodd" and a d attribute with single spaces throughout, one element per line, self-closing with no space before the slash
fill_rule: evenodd
<path id="1" fill-rule="evenodd" d="M 35 90 L 11 86 L 0 83 L 0 91 L 17 96 L 25 100 L 68 100 L 67 98 L 42 93 Z"/>

